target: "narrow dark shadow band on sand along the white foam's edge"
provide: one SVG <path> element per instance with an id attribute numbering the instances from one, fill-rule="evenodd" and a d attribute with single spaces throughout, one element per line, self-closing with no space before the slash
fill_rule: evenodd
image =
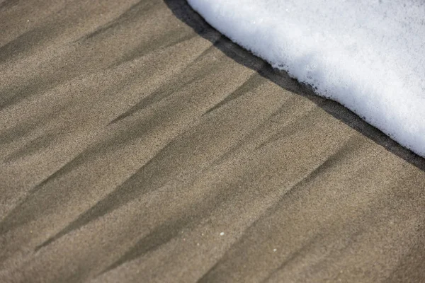
<path id="1" fill-rule="evenodd" d="M 188 5 L 186 0 L 164 0 L 166 6 L 169 7 L 176 18 L 190 26 L 198 35 L 209 40 L 213 44 L 220 36 L 220 33 L 212 28 L 191 6 Z M 291 79 L 287 72 L 273 69 L 270 64 L 266 63 L 264 67 L 259 68 L 261 64 L 264 64 L 263 59 L 256 57 L 251 52 L 244 50 L 239 45 L 235 44 L 229 38 L 222 35 L 222 41 L 220 45 L 215 44 L 218 50 L 223 52 L 227 57 L 233 59 L 235 62 L 248 67 L 256 71 L 259 75 L 264 78 L 276 83 L 276 85 L 295 93 L 299 96 L 303 96 L 311 100 L 319 108 L 322 108 L 328 114 L 332 115 L 336 119 L 344 122 L 352 129 L 368 137 L 368 139 L 379 144 L 387 151 L 390 151 L 395 156 L 403 158 L 421 171 L 425 171 L 425 158 L 418 156 L 413 151 L 405 149 L 399 145 L 396 141 L 390 139 L 386 134 L 380 131 L 380 129 L 373 127 L 367 122 L 361 120 L 354 112 L 348 110 L 343 105 L 329 100 L 326 98 L 319 97 L 314 94 L 314 89 L 303 83 L 297 82 L 295 79 Z"/>

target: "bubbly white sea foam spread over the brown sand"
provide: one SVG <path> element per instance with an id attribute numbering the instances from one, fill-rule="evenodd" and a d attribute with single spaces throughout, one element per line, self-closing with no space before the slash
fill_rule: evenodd
<path id="1" fill-rule="evenodd" d="M 422 0 L 188 0 L 213 27 L 425 156 Z"/>

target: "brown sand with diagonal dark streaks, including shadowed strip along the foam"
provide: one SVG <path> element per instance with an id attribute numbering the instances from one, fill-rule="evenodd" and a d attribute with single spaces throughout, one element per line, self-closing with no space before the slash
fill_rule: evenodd
<path id="1" fill-rule="evenodd" d="M 0 282 L 425 282 L 424 190 L 183 0 L 0 0 Z"/>

